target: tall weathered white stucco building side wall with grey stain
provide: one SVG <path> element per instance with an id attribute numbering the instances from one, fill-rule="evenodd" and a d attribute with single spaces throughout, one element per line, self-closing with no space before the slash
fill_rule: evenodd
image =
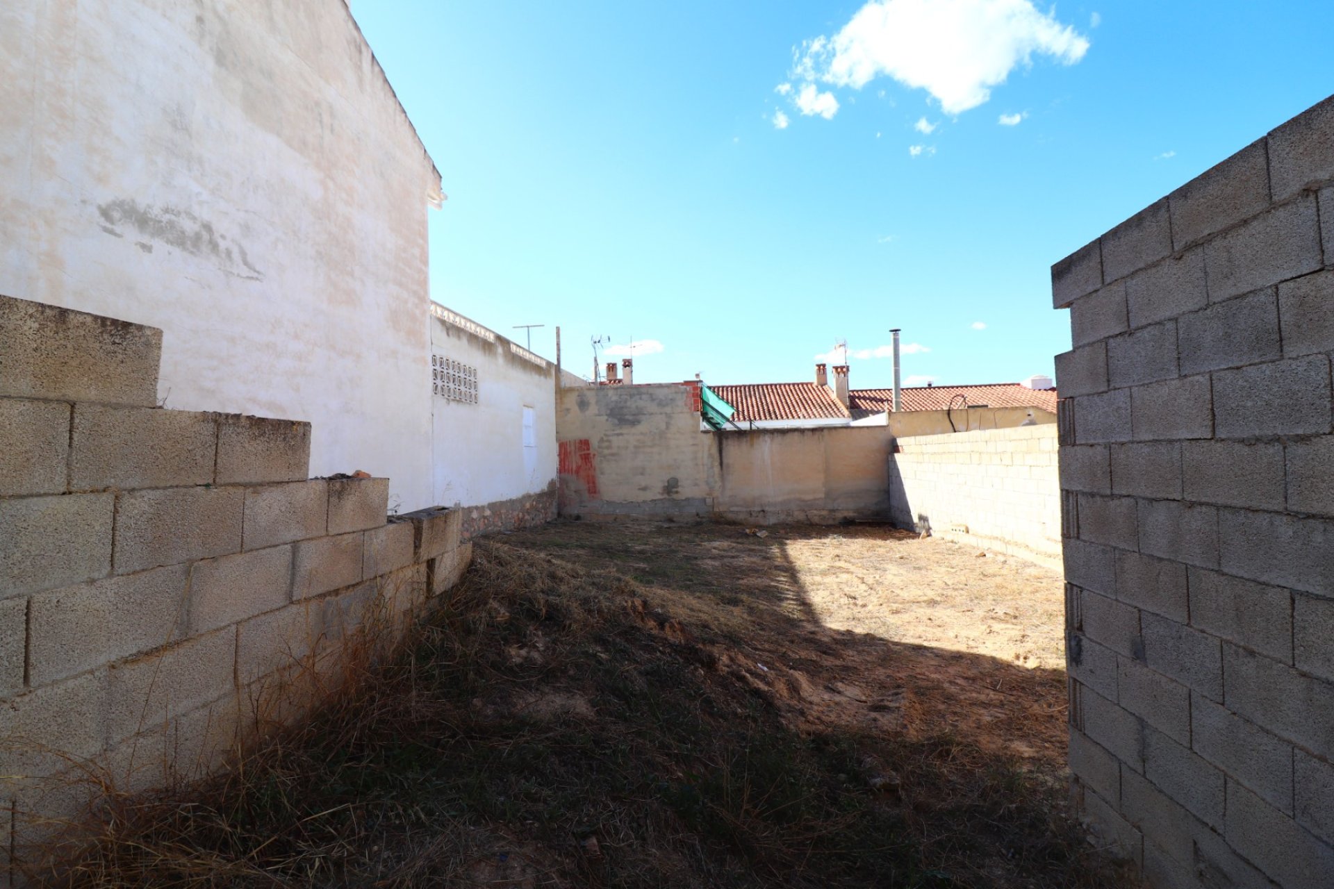
<path id="1" fill-rule="evenodd" d="M 0 3 L 0 293 L 163 329 L 167 407 L 431 504 L 439 173 L 343 0 Z"/>

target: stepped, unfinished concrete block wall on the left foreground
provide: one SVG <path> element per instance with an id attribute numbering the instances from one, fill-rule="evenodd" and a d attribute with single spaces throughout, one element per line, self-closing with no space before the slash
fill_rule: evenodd
<path id="1" fill-rule="evenodd" d="M 388 480 L 307 478 L 308 424 L 155 407 L 160 344 L 0 297 L 0 885 L 88 766 L 212 769 L 471 557 L 460 510 L 390 520 Z"/>

